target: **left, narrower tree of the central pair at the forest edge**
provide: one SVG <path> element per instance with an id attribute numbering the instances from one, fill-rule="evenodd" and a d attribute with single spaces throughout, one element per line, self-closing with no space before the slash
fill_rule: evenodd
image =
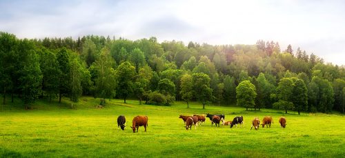
<path id="1" fill-rule="evenodd" d="M 181 97 L 187 102 L 187 108 L 189 108 L 188 101 L 193 99 L 193 78 L 192 76 L 185 74 L 181 77 Z"/>

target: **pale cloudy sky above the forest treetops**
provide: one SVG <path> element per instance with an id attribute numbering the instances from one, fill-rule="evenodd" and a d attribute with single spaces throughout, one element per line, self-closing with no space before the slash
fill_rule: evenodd
<path id="1" fill-rule="evenodd" d="M 342 0 L 0 0 L 0 31 L 29 39 L 95 34 L 213 45 L 263 39 L 345 65 Z"/>

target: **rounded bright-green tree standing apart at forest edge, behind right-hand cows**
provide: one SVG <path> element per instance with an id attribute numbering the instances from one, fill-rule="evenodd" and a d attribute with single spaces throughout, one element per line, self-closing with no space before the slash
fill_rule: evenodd
<path id="1" fill-rule="evenodd" d="M 237 106 L 255 108 L 255 98 L 257 97 L 255 86 L 249 80 L 244 80 L 236 88 Z"/>

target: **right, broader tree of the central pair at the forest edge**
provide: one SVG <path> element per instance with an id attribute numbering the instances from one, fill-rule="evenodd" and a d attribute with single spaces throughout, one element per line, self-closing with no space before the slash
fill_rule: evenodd
<path id="1" fill-rule="evenodd" d="M 210 88 L 210 77 L 204 73 L 194 73 L 192 78 L 195 97 L 202 103 L 202 108 L 204 109 L 205 104 L 213 98 L 212 89 Z"/>

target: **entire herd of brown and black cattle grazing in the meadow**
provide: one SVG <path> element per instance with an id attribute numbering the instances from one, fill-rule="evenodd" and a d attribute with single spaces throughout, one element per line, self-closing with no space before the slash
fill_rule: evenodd
<path id="1" fill-rule="evenodd" d="M 233 119 L 233 121 L 225 121 L 225 115 L 210 115 L 210 114 L 206 114 L 205 115 L 193 115 L 193 116 L 185 116 L 185 115 L 179 115 L 179 118 L 184 120 L 184 124 L 186 124 L 186 130 L 188 130 L 188 128 L 190 128 L 190 130 L 192 130 L 192 126 L 195 126 L 195 129 L 197 129 L 198 125 L 201 125 L 203 123 L 205 123 L 206 121 L 206 117 L 208 117 L 211 121 L 211 124 L 215 124 L 215 126 L 219 127 L 220 122 L 222 122 L 223 126 L 230 126 L 230 128 L 233 128 L 233 126 L 236 126 L 237 128 L 237 124 L 239 124 L 239 127 L 241 128 L 241 126 L 244 127 L 244 119 L 242 116 L 239 117 L 235 117 Z M 270 128 L 270 124 L 273 124 L 273 118 L 272 117 L 264 117 L 264 119 L 262 119 L 262 128 L 265 127 L 266 128 Z M 280 126 L 282 126 L 282 128 L 286 127 L 286 118 L 285 117 L 280 117 L 279 118 L 279 124 Z M 252 126 L 250 128 L 250 130 L 252 130 L 252 128 L 254 127 L 255 130 L 259 129 L 259 125 L 260 125 L 260 120 L 258 117 L 255 117 L 252 120 Z M 124 130 L 126 127 L 126 118 L 123 115 L 120 115 L 119 117 L 117 117 L 117 126 L 121 127 L 121 130 Z M 133 132 L 135 132 L 135 130 L 139 129 L 139 126 L 144 126 L 145 128 L 145 132 L 146 132 L 146 127 L 148 126 L 148 117 L 146 116 L 137 116 L 134 117 L 132 120 L 132 126 L 130 128 L 132 128 Z"/>

